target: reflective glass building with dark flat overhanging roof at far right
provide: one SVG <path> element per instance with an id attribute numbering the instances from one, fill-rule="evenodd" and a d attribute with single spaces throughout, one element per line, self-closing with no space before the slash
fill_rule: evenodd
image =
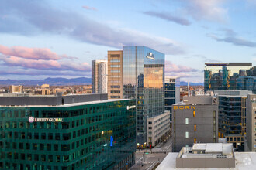
<path id="1" fill-rule="evenodd" d="M 247 90 L 251 83 L 242 83 L 247 76 L 256 76 L 252 63 L 206 63 L 205 93 L 214 90 Z M 244 87 L 245 86 L 245 87 Z M 248 86 L 248 87 L 246 87 Z M 256 86 L 254 86 L 254 89 Z"/>

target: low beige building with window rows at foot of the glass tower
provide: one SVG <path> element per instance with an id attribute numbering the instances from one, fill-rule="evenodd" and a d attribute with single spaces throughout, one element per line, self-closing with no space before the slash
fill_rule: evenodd
<path id="1" fill-rule="evenodd" d="M 170 111 L 147 118 L 147 146 L 154 147 L 168 138 L 170 134 Z"/>

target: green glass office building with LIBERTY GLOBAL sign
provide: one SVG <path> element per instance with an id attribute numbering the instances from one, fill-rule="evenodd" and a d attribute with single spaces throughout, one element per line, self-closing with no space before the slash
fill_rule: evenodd
<path id="1" fill-rule="evenodd" d="M 135 100 L 79 96 L 62 98 L 62 104 L 61 98 L 49 98 L 51 106 L 49 100 L 45 104 L 48 97 L 38 98 L 40 105 L 34 97 L 26 98 L 31 104 L 26 106 L 2 102 L 0 169 L 130 168 L 136 150 Z"/>

